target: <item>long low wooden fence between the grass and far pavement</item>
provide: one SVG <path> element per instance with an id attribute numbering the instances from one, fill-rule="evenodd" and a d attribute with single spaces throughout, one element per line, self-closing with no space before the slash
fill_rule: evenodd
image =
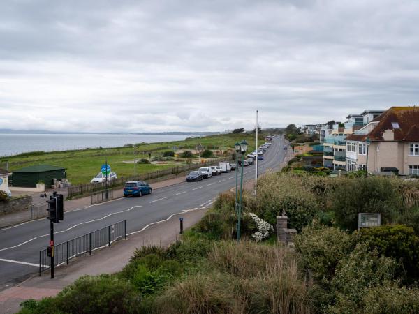
<path id="1" fill-rule="evenodd" d="M 136 176 L 120 177 L 119 179 L 108 181 L 108 188 L 123 186 L 126 183 L 126 181 L 135 181 L 135 180 L 149 181 L 152 179 L 166 177 L 171 174 L 181 174 L 182 172 L 196 170 L 199 167 L 206 167 L 209 165 L 214 165 L 216 163 L 219 163 L 219 161 L 221 160 L 223 160 L 223 158 L 217 158 L 211 161 L 207 161 L 206 163 L 201 163 L 200 165 L 191 164 L 191 165 L 177 166 L 177 167 L 172 167 L 166 170 L 159 170 L 159 171 L 154 171 L 154 172 L 147 172 L 145 174 L 138 174 Z M 68 197 L 72 197 L 75 195 L 83 195 L 87 193 L 99 192 L 101 190 L 104 190 L 105 188 L 106 188 L 105 183 L 79 184 L 77 186 L 69 186 Z"/>

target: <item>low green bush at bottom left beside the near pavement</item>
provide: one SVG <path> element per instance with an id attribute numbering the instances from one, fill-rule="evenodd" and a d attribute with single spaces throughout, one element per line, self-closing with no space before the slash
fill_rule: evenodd
<path id="1" fill-rule="evenodd" d="M 136 313 L 138 295 L 128 281 L 115 276 L 82 276 L 57 297 L 22 304 L 21 313 Z"/>

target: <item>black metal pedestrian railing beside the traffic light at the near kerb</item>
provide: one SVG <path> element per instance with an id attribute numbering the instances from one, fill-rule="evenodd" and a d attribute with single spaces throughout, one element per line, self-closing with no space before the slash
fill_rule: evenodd
<path id="1" fill-rule="evenodd" d="M 110 246 L 119 238 L 126 238 L 126 220 L 108 225 L 102 229 L 84 234 L 75 239 L 54 246 L 54 266 L 67 263 L 74 257 L 84 255 L 103 246 Z M 51 257 L 47 256 L 47 249 L 39 251 L 39 276 L 51 268 Z"/>

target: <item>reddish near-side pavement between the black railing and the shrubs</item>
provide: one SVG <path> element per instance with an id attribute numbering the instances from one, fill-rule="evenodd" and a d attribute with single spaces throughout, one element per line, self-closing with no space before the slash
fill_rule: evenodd
<path id="1" fill-rule="evenodd" d="M 126 240 L 94 251 L 91 256 L 78 257 L 66 266 L 56 267 L 55 278 L 50 278 L 49 271 L 43 276 L 34 275 L 23 283 L 0 292 L 0 313 L 16 313 L 20 303 L 27 299 L 52 297 L 80 276 L 112 274 L 121 271 L 128 263 L 135 248 L 147 244 L 166 247 L 179 239 L 179 217 L 184 218 L 184 229 L 198 223 L 205 214 L 205 209 L 197 209 L 172 216 L 169 220 L 152 225 L 146 230 L 131 234 Z"/>

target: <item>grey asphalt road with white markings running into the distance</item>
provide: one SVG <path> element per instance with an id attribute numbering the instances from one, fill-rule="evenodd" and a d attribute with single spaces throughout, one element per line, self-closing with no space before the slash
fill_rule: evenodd
<path id="1" fill-rule="evenodd" d="M 279 167 L 284 160 L 283 137 L 274 137 L 258 162 L 258 173 Z M 239 173 L 240 174 L 240 173 Z M 244 167 L 244 180 L 254 178 L 255 166 Z M 126 220 L 126 232 L 138 232 L 150 223 L 189 209 L 209 207 L 219 193 L 235 186 L 235 172 L 184 182 L 153 190 L 151 195 L 120 198 L 87 209 L 68 211 L 64 220 L 54 226 L 54 241 L 59 244 L 82 234 Z M 17 227 L 0 230 L 0 290 L 24 280 L 38 271 L 39 251 L 50 239 L 50 221 L 34 220 Z"/>

